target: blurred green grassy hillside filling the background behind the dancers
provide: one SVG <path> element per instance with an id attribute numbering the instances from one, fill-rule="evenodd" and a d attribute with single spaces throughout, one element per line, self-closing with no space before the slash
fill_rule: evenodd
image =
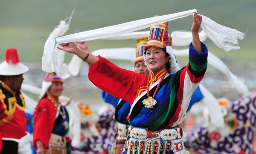
<path id="1" fill-rule="evenodd" d="M 9 0 L 0 5 L 0 61 L 6 48 L 17 48 L 21 61 L 40 62 L 49 33 L 76 7 L 66 34 L 97 29 L 132 20 L 197 9 L 217 23 L 245 32 L 241 50 L 225 53 L 209 39 L 209 50 L 232 61 L 255 62 L 255 0 Z M 192 17 L 169 22 L 169 31 L 190 30 Z M 88 42 L 99 48 L 134 47 L 134 40 Z M 216 51 L 217 50 L 217 51 Z M 253 56 L 254 55 L 254 56 Z M 70 60 L 71 55 L 66 57 Z"/>

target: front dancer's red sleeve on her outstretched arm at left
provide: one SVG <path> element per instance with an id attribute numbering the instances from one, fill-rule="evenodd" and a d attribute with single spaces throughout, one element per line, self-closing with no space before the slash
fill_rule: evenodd
<path id="1" fill-rule="evenodd" d="M 119 68 L 105 58 L 98 57 L 99 60 L 89 68 L 89 80 L 108 94 L 132 104 L 138 86 L 148 76 Z"/>

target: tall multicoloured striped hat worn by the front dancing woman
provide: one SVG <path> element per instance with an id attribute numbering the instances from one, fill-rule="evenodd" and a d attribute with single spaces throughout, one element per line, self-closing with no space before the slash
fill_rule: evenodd
<path id="1" fill-rule="evenodd" d="M 160 23 L 152 26 L 149 31 L 147 46 L 144 46 L 143 50 L 150 47 L 165 48 L 166 46 L 170 46 L 168 40 L 168 23 Z"/>

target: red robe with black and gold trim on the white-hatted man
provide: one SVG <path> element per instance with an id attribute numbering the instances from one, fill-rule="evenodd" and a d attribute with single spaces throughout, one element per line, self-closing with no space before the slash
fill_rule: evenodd
<path id="1" fill-rule="evenodd" d="M 26 135 L 25 100 L 20 93 L 0 83 L 0 151 L 2 137 L 20 139 Z"/>

